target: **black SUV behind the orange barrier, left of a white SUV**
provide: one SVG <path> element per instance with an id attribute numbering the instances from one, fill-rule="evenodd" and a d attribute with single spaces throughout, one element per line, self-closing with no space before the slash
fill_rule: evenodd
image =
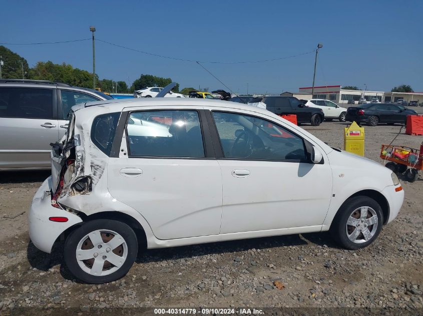
<path id="1" fill-rule="evenodd" d="M 295 114 L 298 123 L 311 123 L 320 125 L 324 120 L 323 111 L 315 107 L 307 107 L 295 97 L 291 96 L 265 96 L 254 98 L 250 103 L 263 102 L 266 109 L 276 115 Z"/>

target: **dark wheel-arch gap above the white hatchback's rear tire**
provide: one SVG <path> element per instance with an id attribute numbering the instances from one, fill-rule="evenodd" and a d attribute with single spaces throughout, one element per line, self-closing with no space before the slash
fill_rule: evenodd
<path id="1" fill-rule="evenodd" d="M 125 213 L 118 212 L 118 211 L 105 211 L 105 212 L 100 212 L 100 213 L 96 213 L 89 216 L 84 215 L 83 213 L 80 213 L 79 215 L 81 215 L 81 218 L 84 221 L 84 223 L 90 222 L 93 220 L 98 220 L 98 219 L 108 219 L 108 220 L 114 220 L 114 221 L 125 223 L 126 225 L 128 225 L 134 230 L 135 235 L 137 236 L 138 246 L 139 246 L 138 250 L 140 251 L 140 250 L 147 249 L 147 237 L 146 237 L 144 228 L 132 216 Z"/>

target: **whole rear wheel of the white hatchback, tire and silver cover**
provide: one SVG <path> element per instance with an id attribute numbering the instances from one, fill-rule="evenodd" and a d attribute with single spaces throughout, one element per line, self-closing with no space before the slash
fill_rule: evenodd
<path id="1" fill-rule="evenodd" d="M 102 284 L 125 276 L 137 253 L 137 236 L 128 225 L 101 219 L 84 223 L 68 236 L 64 259 L 79 280 Z"/>

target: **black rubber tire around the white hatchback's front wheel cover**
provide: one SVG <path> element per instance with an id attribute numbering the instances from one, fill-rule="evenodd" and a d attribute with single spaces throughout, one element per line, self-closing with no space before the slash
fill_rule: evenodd
<path id="1" fill-rule="evenodd" d="M 351 233 L 352 235 L 356 229 L 357 229 L 357 232 L 360 232 L 359 228 L 351 227 L 351 226 L 348 227 L 347 221 L 350 215 L 354 214 L 354 211 L 361 207 L 368 207 L 372 209 L 372 211 L 375 213 L 374 216 L 377 217 L 377 225 L 376 227 L 374 227 L 373 225 L 368 226 L 369 227 L 368 230 L 370 231 L 371 229 L 371 233 L 373 234 L 369 240 L 363 241 L 360 243 L 355 243 L 355 242 L 352 242 L 348 238 L 347 229 L 349 228 L 353 229 Z M 370 209 L 368 209 L 367 214 L 371 214 Z M 361 222 L 359 223 L 363 225 Z M 338 213 L 336 213 L 336 216 L 332 222 L 332 225 L 330 226 L 330 234 L 332 235 L 332 238 L 343 248 L 350 249 L 350 250 L 361 249 L 370 245 L 377 238 L 377 236 L 380 233 L 380 230 L 382 229 L 382 224 L 383 224 L 383 213 L 382 213 L 382 209 L 380 208 L 380 205 L 377 204 L 376 201 L 374 201 L 373 199 L 367 196 L 355 196 L 346 200 L 342 204 L 342 206 L 339 208 Z M 373 233 L 373 229 L 374 229 L 374 233 Z M 364 238 L 364 235 L 362 235 L 361 232 L 359 233 L 357 238 L 360 238 L 360 236 Z"/>

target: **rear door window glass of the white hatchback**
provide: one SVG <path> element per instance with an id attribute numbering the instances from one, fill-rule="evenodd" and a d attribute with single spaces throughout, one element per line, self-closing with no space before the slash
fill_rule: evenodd
<path id="1" fill-rule="evenodd" d="M 130 156 L 205 157 L 197 111 L 132 112 L 127 133 Z"/>

